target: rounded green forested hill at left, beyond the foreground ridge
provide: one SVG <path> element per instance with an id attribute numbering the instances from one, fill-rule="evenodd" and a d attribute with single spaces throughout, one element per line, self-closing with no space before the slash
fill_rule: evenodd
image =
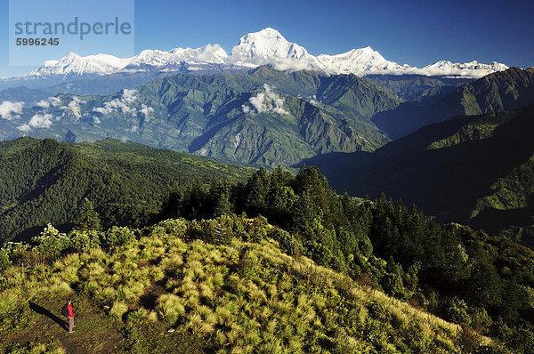
<path id="1" fill-rule="evenodd" d="M 246 168 L 116 140 L 0 143 L 0 242 L 34 236 L 48 222 L 69 229 L 84 198 L 105 227 L 144 225 L 174 184 L 241 181 Z"/>

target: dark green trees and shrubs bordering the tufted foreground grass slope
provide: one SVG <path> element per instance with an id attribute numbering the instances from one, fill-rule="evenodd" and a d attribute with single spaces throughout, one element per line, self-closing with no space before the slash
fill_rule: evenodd
<path id="1" fill-rule="evenodd" d="M 86 208 L 85 213 L 93 212 L 90 208 Z M 236 214 L 242 217 L 227 216 Z M 93 218 L 95 215 L 93 214 Z M 257 216 L 254 221 L 250 222 L 263 226 L 249 229 L 249 226 L 243 225 L 244 220 L 248 220 L 242 219 L 246 215 L 247 217 Z M 408 302 L 413 308 L 429 311 L 448 321 L 465 326 L 467 332 L 464 334 L 467 337 L 484 335 L 497 341 L 495 345 L 503 342 L 510 350 L 534 352 L 534 291 L 532 290 L 534 287 L 534 252 L 506 238 L 490 237 L 484 232 L 458 224 L 436 223 L 416 207 L 409 208 L 403 205 L 401 200 L 392 202 L 384 195 L 374 201 L 336 195 L 328 187 L 328 182 L 316 167 L 303 167 L 296 175 L 281 168 L 272 173 L 260 169 L 252 173 L 247 182 L 218 181 L 206 186 L 197 181 L 175 186 L 167 193 L 158 217 L 162 220 L 176 217 L 195 220 L 188 223 L 187 227 L 183 226 L 181 223 L 183 221 L 179 221 L 179 225 L 182 225 L 179 229 L 184 229 L 185 238 L 189 240 L 199 239 L 214 245 L 232 245 L 232 242 L 249 243 L 250 245 L 240 246 L 239 260 L 247 254 L 247 249 L 255 249 L 259 246 L 258 243 L 263 242 L 262 240 L 273 239 L 278 243 L 280 250 L 293 257 L 292 259 L 309 257 L 318 266 L 344 274 L 360 286 L 371 286 L 402 302 Z M 210 221 L 215 217 L 218 219 Z M 266 226 L 265 218 L 277 227 Z M 91 218 L 80 219 L 78 217 L 77 220 L 86 221 Z M 44 261 L 44 264 L 58 264 L 56 260 L 62 255 L 73 252 L 83 253 L 96 245 L 100 245 L 104 250 L 110 250 L 111 253 L 117 247 L 126 245 L 123 255 L 120 256 L 123 261 L 127 261 L 128 257 L 142 261 L 134 255 L 141 252 L 150 254 L 146 257 L 157 259 L 154 264 L 159 264 L 164 256 L 161 255 L 158 258 L 157 254 L 165 253 L 166 247 L 176 242 L 173 241 L 175 238 L 172 235 L 178 232 L 173 229 L 173 222 L 177 221 L 167 222 L 170 222 L 168 224 L 170 226 L 162 223 L 158 227 L 149 229 L 112 228 L 106 232 L 91 230 L 96 229 L 90 226 L 94 225 L 93 222 L 82 222 L 78 224 L 81 225 L 78 228 L 86 229 L 85 231 L 75 230 L 69 234 L 59 234 L 58 231 L 49 227 L 41 237 L 35 238 L 33 248 L 28 248 L 27 245 L 6 245 L 2 251 L 4 268 L 10 271 L 12 269 L 9 268 L 10 264 L 13 267 L 32 264 L 32 262 L 35 264 L 39 261 Z M 150 251 L 143 251 L 144 244 L 149 242 L 146 238 L 142 238 L 140 244 L 135 244 L 135 240 L 139 237 L 146 236 L 147 233 L 158 232 L 171 234 L 167 236 L 165 242 L 153 241 L 161 249 L 160 251 L 150 250 L 149 246 L 147 249 Z M 178 233 L 182 235 L 182 231 Z M 132 242 L 134 244 L 131 244 Z M 138 251 L 135 251 L 135 248 L 130 249 L 130 245 L 138 245 Z M 146 260 L 146 257 L 143 259 Z M 256 264 L 257 260 L 253 258 L 244 262 Z M 114 261 L 103 261 L 101 264 L 100 267 L 104 265 L 113 267 Z M 247 274 L 265 281 L 263 271 L 269 271 L 268 268 L 263 270 L 260 265 L 257 265 L 257 268 L 251 267 L 254 270 L 250 270 L 251 273 Z M 84 268 L 77 265 L 75 270 L 69 270 L 74 275 L 67 286 L 62 286 L 66 294 L 69 293 L 71 286 L 77 294 L 97 294 L 98 284 L 93 284 L 93 288 L 88 290 L 85 289 L 85 284 L 86 286 L 92 284 L 93 278 L 91 270 L 84 270 Z M 61 269 L 60 267 L 56 271 L 61 271 Z M 233 271 L 239 272 L 239 269 L 239 267 L 231 269 L 229 277 Z M 102 271 L 104 270 L 99 270 L 98 273 Z M 59 274 L 57 277 L 61 278 Z M 106 274 L 110 276 L 112 273 Z M 80 277 L 85 277 L 86 280 L 80 280 Z M 184 278 L 177 277 L 179 280 L 175 286 L 180 286 Z M 34 281 L 37 281 L 37 278 L 34 278 Z M 94 281 L 99 282 L 99 280 Z M 295 284 L 301 281 L 298 280 Z M 8 282 L 8 284 L 11 283 Z M 108 287 L 115 289 L 113 291 L 116 292 L 117 285 L 112 286 L 112 284 L 114 283 L 110 283 Z M 61 286 L 60 280 L 56 286 Z M 101 286 L 105 287 L 105 284 Z M 141 296 L 148 287 L 150 286 L 147 283 L 142 290 L 136 290 L 134 293 L 138 295 L 132 295 L 134 299 L 136 296 L 137 298 Z M 172 288 L 172 286 L 169 285 L 167 288 Z M 115 294 L 112 290 L 106 290 L 106 292 Z M 104 292 L 103 287 L 100 292 Z M 180 294 L 187 297 L 184 293 Z M 105 295 L 103 296 L 106 298 Z M 109 299 L 113 301 L 119 299 L 118 295 L 109 296 Z M 182 307 L 178 304 L 184 306 L 180 300 L 169 301 L 175 302 L 175 306 L 179 309 Z M 113 311 L 118 311 L 119 314 L 125 312 L 129 314 L 130 309 L 137 310 L 127 303 L 115 306 L 113 302 L 106 302 L 106 306 L 111 306 L 110 309 L 115 308 Z M 367 309 L 374 311 L 371 310 L 372 306 Z M 178 314 L 173 316 L 180 318 L 181 313 L 182 310 L 178 310 Z M 187 313 L 189 316 L 190 313 Z M 159 316 L 165 319 L 166 315 L 161 312 Z M 200 326 L 202 321 L 206 320 L 206 316 L 202 314 L 198 316 L 200 317 L 198 326 Z M 387 319 L 389 315 L 384 316 L 385 322 L 394 319 Z M 342 318 L 336 321 L 343 322 L 346 319 Z M 195 321 L 191 318 L 189 320 Z M 185 325 L 190 322 L 172 323 Z M 214 323 L 211 325 L 214 326 L 213 331 L 219 328 Z M 189 332 L 186 331 L 187 334 L 202 332 L 191 329 L 190 326 L 185 325 L 185 328 L 190 329 Z M 403 338 L 401 341 L 407 340 L 406 335 L 409 334 L 403 334 L 401 329 L 405 327 L 401 325 L 399 327 L 394 323 L 392 326 L 395 327 L 394 331 L 401 332 L 396 332 L 393 339 L 388 341 L 394 342 L 394 338 L 398 337 Z M 337 333 L 332 331 L 334 330 L 332 329 L 327 335 L 332 336 Z M 344 331 L 348 331 L 344 333 L 352 336 L 352 332 L 347 328 L 344 328 Z M 373 331 L 367 332 L 368 335 L 376 334 L 376 331 L 380 330 Z M 214 332 L 210 329 L 208 333 Z M 224 335 L 228 340 L 227 334 L 224 333 Z M 434 338 L 439 337 L 439 335 L 434 336 Z M 361 337 L 359 338 L 361 340 Z M 481 339 L 480 341 L 484 342 Z M 465 352 L 477 352 L 477 350 L 506 352 L 504 349 L 502 349 L 504 351 L 499 351 L 497 347 L 490 348 L 487 345 L 481 345 L 480 341 Z M 318 343 L 323 349 L 322 352 L 326 352 L 324 350 L 337 352 L 336 350 L 342 348 L 339 342 L 334 341 L 334 344 L 327 344 L 327 342 Z M 454 347 L 454 344 L 449 347 L 435 343 L 427 344 L 431 346 L 422 349 L 423 347 L 417 346 L 420 344 L 413 342 L 397 343 L 389 351 L 429 350 L 437 352 L 439 351 L 437 347 L 450 352 L 460 351 Z M 284 345 L 289 344 L 287 342 Z M 479 345 L 481 345 L 480 348 Z M 216 348 L 223 350 L 220 346 Z M 281 348 L 281 351 L 287 351 L 288 347 Z M 311 347 L 299 348 L 304 351 L 313 351 Z M 385 347 L 375 346 L 374 348 L 378 352 L 385 350 Z"/>

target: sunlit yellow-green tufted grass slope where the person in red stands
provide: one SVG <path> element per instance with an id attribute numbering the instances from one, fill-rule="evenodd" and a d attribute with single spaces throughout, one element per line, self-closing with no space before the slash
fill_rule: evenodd
<path id="1" fill-rule="evenodd" d="M 0 350 L 507 352 L 283 253 L 271 238 L 278 233 L 261 220 L 169 220 L 142 231 L 116 229 L 123 242 L 104 250 L 12 266 L 0 287 Z M 68 297 L 75 299 L 75 334 L 57 318 Z"/>

